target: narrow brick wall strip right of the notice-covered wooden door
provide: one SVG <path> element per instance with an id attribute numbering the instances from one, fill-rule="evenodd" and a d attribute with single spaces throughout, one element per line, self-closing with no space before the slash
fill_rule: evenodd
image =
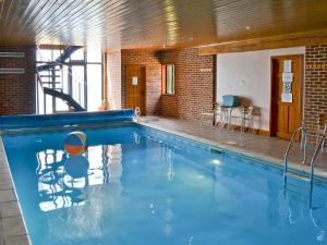
<path id="1" fill-rule="evenodd" d="M 316 130 L 327 115 L 327 45 L 305 48 L 304 125 Z"/>

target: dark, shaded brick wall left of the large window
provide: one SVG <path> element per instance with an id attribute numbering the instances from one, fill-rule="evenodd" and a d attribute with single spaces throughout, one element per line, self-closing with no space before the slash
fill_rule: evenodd
<path id="1" fill-rule="evenodd" d="M 0 74 L 0 114 L 35 113 L 35 47 L 0 46 L 0 52 L 25 52 L 25 58 L 0 58 L 0 68 L 25 69 L 25 74 Z"/>

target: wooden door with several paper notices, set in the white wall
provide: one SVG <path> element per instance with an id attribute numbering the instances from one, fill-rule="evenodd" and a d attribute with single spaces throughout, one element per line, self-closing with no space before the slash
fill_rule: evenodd
<path id="1" fill-rule="evenodd" d="M 284 61 L 291 61 L 290 93 L 292 99 L 282 99 L 284 88 L 282 74 Z M 302 122 L 302 81 L 303 81 L 303 56 L 284 56 L 271 58 L 271 113 L 270 133 L 272 136 L 290 139 L 292 133 Z M 296 137 L 300 138 L 300 135 Z"/>

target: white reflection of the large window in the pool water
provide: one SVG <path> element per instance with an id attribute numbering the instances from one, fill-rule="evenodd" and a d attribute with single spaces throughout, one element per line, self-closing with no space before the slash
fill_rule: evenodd
<path id="1" fill-rule="evenodd" d="M 84 205 L 85 192 L 90 193 L 93 186 L 104 183 L 110 184 L 110 193 L 122 193 L 122 147 L 119 144 L 89 147 L 85 157 L 70 158 L 63 150 L 55 149 L 39 151 L 36 157 L 43 211 Z M 66 163 L 70 169 L 65 169 Z"/>

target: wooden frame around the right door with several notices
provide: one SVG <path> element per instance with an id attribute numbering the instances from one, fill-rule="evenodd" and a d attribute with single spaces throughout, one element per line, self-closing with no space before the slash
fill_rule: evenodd
<path id="1" fill-rule="evenodd" d="M 270 113 L 269 113 L 269 136 L 274 136 L 272 134 L 272 93 L 274 93 L 274 88 L 276 88 L 275 84 L 274 84 L 274 69 L 272 69 L 272 61 L 274 59 L 278 59 L 278 58 L 284 58 L 284 57 L 300 57 L 300 66 L 301 66 L 301 77 L 299 81 L 299 102 L 298 102 L 298 107 L 299 107 L 299 112 L 300 112 L 300 119 L 299 119 L 299 124 L 302 125 L 303 124 L 303 85 L 304 85 L 304 54 L 303 53 L 298 53 L 298 54 L 281 54 L 281 56 L 272 56 L 270 57 Z"/>

